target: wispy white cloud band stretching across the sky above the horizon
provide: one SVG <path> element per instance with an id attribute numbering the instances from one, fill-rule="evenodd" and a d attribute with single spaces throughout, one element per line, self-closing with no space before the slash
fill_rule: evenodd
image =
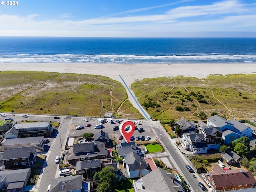
<path id="1" fill-rule="evenodd" d="M 146 8 L 145 8 L 146 9 Z M 252 14 L 253 13 L 253 14 Z M 255 5 L 227 0 L 204 6 L 180 6 L 155 15 L 115 16 L 72 21 L 70 13 L 59 19 L 37 20 L 38 15 L 0 15 L 0 35 L 32 36 L 162 36 L 187 32 L 255 32 Z M 196 20 L 194 20 L 196 18 Z"/>

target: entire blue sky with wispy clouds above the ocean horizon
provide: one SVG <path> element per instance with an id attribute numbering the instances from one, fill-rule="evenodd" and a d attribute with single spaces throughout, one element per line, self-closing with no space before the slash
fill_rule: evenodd
<path id="1" fill-rule="evenodd" d="M 256 37 L 256 1 L 18 0 L 0 36 Z"/>

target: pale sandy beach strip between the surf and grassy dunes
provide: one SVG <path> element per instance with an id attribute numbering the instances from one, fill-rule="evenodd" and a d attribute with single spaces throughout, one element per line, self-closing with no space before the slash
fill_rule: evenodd
<path id="1" fill-rule="evenodd" d="M 2 71 L 45 71 L 107 76 L 130 87 L 135 80 L 156 77 L 191 76 L 204 78 L 210 74 L 256 74 L 256 63 L 238 64 L 95 64 L 95 63 L 1 63 Z M 120 75 L 120 76 L 119 76 Z"/>

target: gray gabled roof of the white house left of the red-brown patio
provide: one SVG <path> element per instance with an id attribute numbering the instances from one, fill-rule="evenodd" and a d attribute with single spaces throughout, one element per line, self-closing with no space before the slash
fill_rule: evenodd
<path id="1" fill-rule="evenodd" d="M 140 170 L 140 167 L 142 170 L 148 169 L 147 163 L 144 159 L 144 157 L 139 156 L 136 152 L 132 151 L 125 157 L 126 164 L 129 165 L 130 171 Z"/>

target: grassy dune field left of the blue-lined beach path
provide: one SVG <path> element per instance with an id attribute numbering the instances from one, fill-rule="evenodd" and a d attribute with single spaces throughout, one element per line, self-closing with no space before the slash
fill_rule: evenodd
<path id="1" fill-rule="evenodd" d="M 2 112 L 99 116 L 101 108 L 103 114 L 141 118 L 122 84 L 105 76 L 1 71 L 0 78 Z"/>

